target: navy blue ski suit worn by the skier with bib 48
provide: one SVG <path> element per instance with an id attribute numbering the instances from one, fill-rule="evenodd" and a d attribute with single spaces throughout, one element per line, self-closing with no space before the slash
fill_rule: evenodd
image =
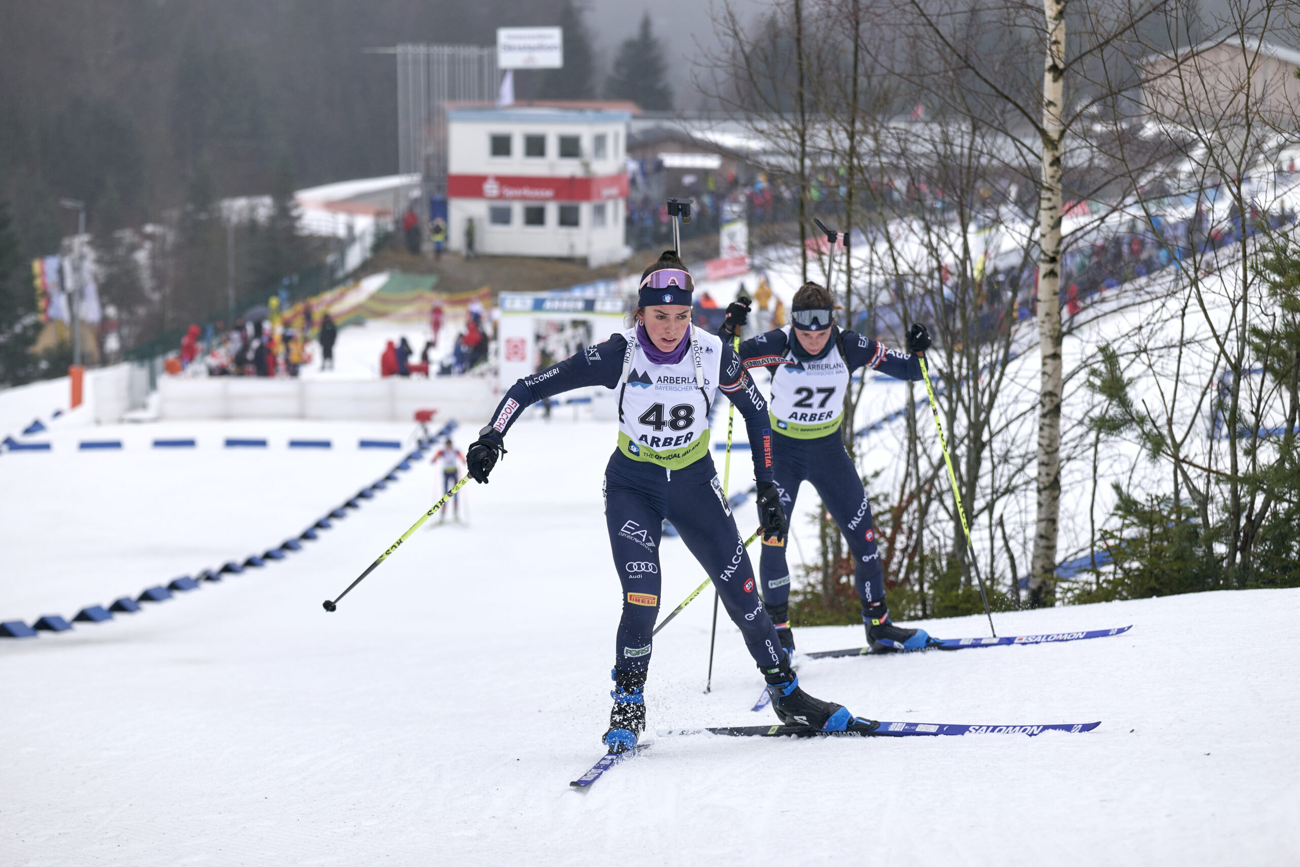
<path id="1" fill-rule="evenodd" d="M 712 335 L 707 337 L 716 342 Z M 642 385 L 637 378 L 627 383 L 623 381 L 627 348 L 627 338 L 614 334 L 603 343 L 519 380 L 497 407 L 493 428 L 504 435 L 521 408 L 582 386 L 619 389 L 621 412 L 623 393 L 628 391 L 629 385 Z M 720 347 L 719 351 L 718 389 L 745 419 L 755 477 L 770 481 L 772 435 L 766 402 L 732 347 Z M 708 352 L 714 352 L 711 346 Z M 682 387 L 693 391 L 689 383 Z M 660 445 L 658 438 L 654 438 L 653 445 Z M 672 521 L 681 541 L 712 577 L 722 603 L 732 621 L 740 627 L 754 662 L 774 667 L 783 659 L 776 629 L 755 586 L 744 539 L 722 494 L 707 442 L 703 445 L 703 448 L 694 452 L 694 460 L 685 467 L 666 469 L 624 454 L 641 454 L 640 450 L 646 447 L 645 441 L 640 450 L 634 443 L 624 443 L 615 450 L 606 465 L 604 520 L 614 552 L 614 568 L 623 584 L 623 616 L 615 645 L 615 668 L 620 671 L 644 672 L 650 664 L 650 637 L 660 604 L 659 542 L 663 519 Z M 746 521 L 746 525 L 750 523 Z"/>

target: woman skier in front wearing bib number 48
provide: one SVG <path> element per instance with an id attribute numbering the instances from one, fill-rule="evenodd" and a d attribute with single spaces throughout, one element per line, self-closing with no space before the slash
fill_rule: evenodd
<path id="1" fill-rule="evenodd" d="M 623 582 L 614 662 L 614 710 L 604 744 L 621 753 L 645 729 L 642 688 L 651 632 L 659 614 L 659 537 L 663 519 L 714 585 L 772 694 L 783 723 L 840 732 L 861 725 L 840 705 L 800 689 L 776 629 L 754 588 L 754 571 L 708 455 L 708 411 L 716 393 L 745 416 L 758 480 L 764 536 L 784 538 L 786 524 L 772 484 L 767 407 L 731 347 L 690 325 L 694 281 L 681 260 L 664 252 L 641 276 L 636 326 L 612 334 L 559 364 L 519 380 L 469 446 L 469 474 L 486 482 L 506 452 L 502 441 L 521 409 L 571 389 L 618 390 L 619 445 L 604 471 L 604 520 Z"/>

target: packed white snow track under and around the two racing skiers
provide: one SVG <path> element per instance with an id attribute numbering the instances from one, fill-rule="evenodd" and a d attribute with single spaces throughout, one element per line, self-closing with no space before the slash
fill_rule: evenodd
<path id="1" fill-rule="evenodd" d="M 264 452 L 203 447 L 231 424 L 169 425 L 199 438 L 187 454 L 0 458 L 0 619 L 70 617 L 278 545 L 394 460 L 277 447 L 364 425 L 240 422 L 268 435 Z M 725 617 L 703 693 L 705 593 L 655 640 L 653 749 L 573 790 L 610 708 L 620 591 L 601 478 L 614 438 L 568 412 L 525 416 L 491 484 L 467 489 L 467 525 L 417 532 L 335 614 L 321 601 L 442 493 L 428 458 L 281 563 L 0 641 L 0 863 L 1300 861 L 1300 590 L 996 616 L 1006 634 L 1132 624 L 1095 641 L 800 660 L 810 693 L 872 719 L 1100 720 L 1091 732 L 655 737 L 776 723 L 750 711 L 760 679 Z M 733 460 L 733 490 L 751 484 L 748 463 Z M 737 517 L 753 524 L 753 503 Z M 667 612 L 702 576 L 680 541 L 660 555 Z M 983 615 L 913 625 L 987 634 Z M 802 651 L 862 638 L 797 630 Z"/>

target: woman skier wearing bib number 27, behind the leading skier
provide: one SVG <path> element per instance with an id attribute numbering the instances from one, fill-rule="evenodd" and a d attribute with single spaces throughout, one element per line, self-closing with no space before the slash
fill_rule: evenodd
<path id="1" fill-rule="evenodd" d="M 840 424 L 849 377 L 858 368 L 868 367 L 897 380 L 920 380 L 920 361 L 915 356 L 930 348 L 930 331 L 919 322 L 913 325 L 907 333 L 907 350 L 913 355 L 904 355 L 853 331 L 841 331 L 833 325 L 835 298 L 818 283 L 805 283 L 793 300 L 790 325 L 740 344 L 746 369 L 766 367 L 772 372 L 768 415 L 776 434 L 772 459 L 780 502 L 788 516 L 794 515 L 800 484 L 812 482 L 849 541 L 867 643 L 887 653 L 920 650 L 931 641 L 926 630 L 901 629 L 889 621 L 871 504 L 858 469 L 844 450 Z M 731 304 L 719 334 L 731 342 L 748 313 L 746 304 Z M 793 654 L 790 571 L 785 565 L 784 538 L 763 538 L 758 575 L 776 634 L 786 653 Z"/>

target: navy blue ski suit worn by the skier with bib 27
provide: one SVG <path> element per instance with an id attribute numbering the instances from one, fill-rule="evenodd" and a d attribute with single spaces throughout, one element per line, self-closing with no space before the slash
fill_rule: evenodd
<path id="1" fill-rule="evenodd" d="M 800 484 L 812 482 L 812 487 L 822 497 L 827 511 L 831 512 L 831 517 L 835 519 L 849 543 L 854 562 L 854 584 L 863 606 L 883 602 L 885 597 L 884 569 L 880 567 L 880 552 L 876 549 L 871 503 L 867 500 L 858 469 L 844 448 L 835 408 L 842 408 L 849 377 L 854 370 L 871 368 L 898 380 L 920 380 L 920 361 L 915 355 L 889 350 L 876 341 L 854 331 L 841 331 L 838 328 L 827 341 L 826 348 L 815 356 L 809 355 L 802 346 L 792 346 L 794 341 L 797 338 L 793 334 L 788 335 L 786 330 L 777 329 L 740 344 L 740 356 L 745 368 L 766 367 L 772 372 L 775 434 L 772 458 L 781 506 L 785 508 L 786 517 L 793 520 Z M 805 368 L 812 368 L 819 361 L 824 363 L 836 357 L 842 357 L 844 364 L 829 374 L 831 378 L 823 376 L 819 382 L 833 383 L 838 381 L 841 385 L 837 394 L 823 394 L 820 403 L 818 403 L 815 393 L 827 393 L 831 389 L 794 389 L 796 393 L 806 391 L 807 395 L 803 402 L 793 403 L 793 407 L 809 407 L 814 411 L 823 408 L 822 412 L 811 413 L 794 411 L 792 415 L 801 415 L 809 422 L 815 422 L 805 425 L 806 432 L 797 433 L 794 429 L 801 425 L 786 422 L 775 415 L 781 411 L 781 407 L 776 406 L 777 377 L 798 376 Z M 823 367 L 826 365 L 823 364 Z M 832 402 L 828 406 L 828 398 L 837 398 L 838 403 Z M 826 428 L 829 428 L 829 433 L 818 435 L 818 432 Z M 790 597 L 790 569 L 785 563 L 784 541 L 776 538 L 763 541 L 758 573 L 768 612 L 777 621 L 784 621 Z M 781 625 L 785 624 L 781 623 Z"/>

